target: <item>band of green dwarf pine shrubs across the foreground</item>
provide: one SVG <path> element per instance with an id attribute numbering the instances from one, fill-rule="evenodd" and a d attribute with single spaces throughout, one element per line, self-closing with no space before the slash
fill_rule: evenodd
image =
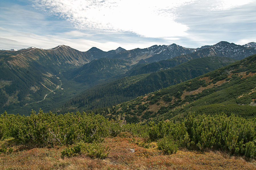
<path id="1" fill-rule="evenodd" d="M 187 118 L 176 123 L 161 121 L 158 124 L 150 122 L 141 125 L 126 124 L 122 117 L 114 121 L 93 113 L 57 115 L 40 110 L 38 114 L 33 111 L 31 116 L 5 112 L 1 115 L 0 122 L 1 140 L 12 138 L 16 145 L 75 146 L 76 148 L 69 146 L 69 149 L 63 152 L 63 156 L 69 157 L 72 154 L 80 154 L 83 149 L 88 153 L 86 148 L 95 147 L 88 143 L 101 143 L 104 138 L 116 137 L 121 133 L 142 137 L 144 143 L 141 146 L 145 148 L 154 141 L 164 154 L 172 154 L 177 152 L 178 148 L 186 148 L 201 151 L 222 150 L 248 158 L 256 156 L 256 119 L 244 119 L 234 115 L 228 117 L 223 113 L 214 116 L 188 114 Z M 80 151 L 77 151 L 77 148 Z M 1 152 L 8 152 L 9 149 L 2 146 Z M 108 150 L 98 148 L 102 153 L 105 149 Z"/>

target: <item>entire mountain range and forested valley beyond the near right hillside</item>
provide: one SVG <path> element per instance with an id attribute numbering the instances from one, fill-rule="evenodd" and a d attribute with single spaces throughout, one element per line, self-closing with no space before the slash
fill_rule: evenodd
<path id="1" fill-rule="evenodd" d="M 241 46 L 224 41 L 201 48 L 171 44 L 108 52 L 96 47 L 80 52 L 65 45 L 1 50 L 0 111 L 110 107 L 253 54 L 255 42 Z"/>

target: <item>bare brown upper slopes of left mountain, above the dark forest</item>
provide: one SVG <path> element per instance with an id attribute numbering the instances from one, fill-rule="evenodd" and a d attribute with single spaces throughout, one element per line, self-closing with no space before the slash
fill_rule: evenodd
<path id="1" fill-rule="evenodd" d="M 0 54 L 9 55 L 9 63 L 18 67 L 26 67 L 29 61 L 35 61 L 56 73 L 63 69 L 83 65 L 92 60 L 86 52 L 80 52 L 65 45 L 57 46 L 51 50 L 32 48 L 18 51 L 0 51 Z"/>

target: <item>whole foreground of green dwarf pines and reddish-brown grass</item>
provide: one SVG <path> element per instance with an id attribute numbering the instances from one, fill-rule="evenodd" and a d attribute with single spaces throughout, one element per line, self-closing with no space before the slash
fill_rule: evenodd
<path id="1" fill-rule="evenodd" d="M 0 116 L 0 139 L 4 169 L 256 167 L 256 119 L 224 113 L 188 114 L 176 123 L 141 125 L 85 112 L 57 115 L 40 110 L 30 116 L 5 112 Z"/>

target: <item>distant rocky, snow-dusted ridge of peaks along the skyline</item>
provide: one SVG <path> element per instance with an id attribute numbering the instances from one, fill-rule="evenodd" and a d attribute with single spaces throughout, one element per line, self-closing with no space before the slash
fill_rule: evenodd
<path id="1" fill-rule="evenodd" d="M 48 50 L 57 50 L 58 48 L 67 48 L 69 50 L 75 51 L 74 48 L 66 45 L 59 45 Z M 14 54 L 18 54 L 23 50 L 30 49 L 42 50 L 42 48 L 29 47 L 13 52 L 15 52 Z M 148 48 L 135 48 L 132 50 L 125 50 L 124 48 L 118 47 L 116 50 L 110 50 L 105 52 L 100 50 L 99 48 L 92 47 L 86 52 L 80 52 L 79 50 L 76 51 L 76 53 L 80 53 L 80 55 L 83 56 L 83 61 L 77 61 L 77 64 L 80 63 L 79 65 L 88 63 L 93 59 L 99 59 L 102 57 L 124 59 L 127 61 L 132 61 L 134 64 L 136 64 L 139 61 L 141 61 L 140 63 L 153 63 L 186 54 L 191 54 L 192 58 L 198 58 L 203 56 L 224 56 L 240 60 L 242 58 L 256 54 L 256 43 L 249 42 L 244 45 L 236 45 L 234 43 L 220 41 L 214 45 L 205 45 L 201 46 L 200 48 L 185 48 L 173 43 L 170 45 L 153 45 Z"/>

